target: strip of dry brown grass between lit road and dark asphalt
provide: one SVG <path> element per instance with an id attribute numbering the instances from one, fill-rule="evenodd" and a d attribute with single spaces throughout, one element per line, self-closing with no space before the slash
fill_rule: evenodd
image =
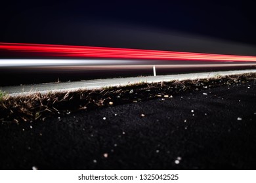
<path id="1" fill-rule="evenodd" d="M 11 97 L 0 90 L 0 122 L 44 121 L 54 114 L 70 114 L 77 110 L 92 110 L 99 107 L 122 105 L 148 99 L 171 99 L 181 92 L 204 90 L 223 85 L 256 80 L 256 74 L 216 76 L 198 80 L 176 80 L 171 82 L 128 84 L 110 86 L 100 90 L 78 90 L 75 92 L 33 93 L 28 96 Z M 168 97 L 167 97 L 168 96 Z"/>

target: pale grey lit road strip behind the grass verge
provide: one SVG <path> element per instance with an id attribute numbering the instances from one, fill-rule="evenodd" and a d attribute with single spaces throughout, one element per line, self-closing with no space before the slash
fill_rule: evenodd
<path id="1" fill-rule="evenodd" d="M 1 87 L 2 91 L 15 95 L 30 95 L 35 92 L 71 92 L 75 90 L 93 90 L 109 86 L 125 86 L 127 84 L 136 84 L 138 82 L 166 82 L 170 80 L 194 80 L 198 78 L 213 78 L 215 76 L 236 75 L 244 73 L 256 73 L 255 69 L 238 70 L 238 71 L 216 71 L 206 73 L 190 73 L 180 75 L 160 75 L 160 76 L 142 76 L 134 78 L 111 78 L 100 80 L 86 80 L 79 82 L 59 82 L 45 83 L 25 86 L 5 86 Z"/>

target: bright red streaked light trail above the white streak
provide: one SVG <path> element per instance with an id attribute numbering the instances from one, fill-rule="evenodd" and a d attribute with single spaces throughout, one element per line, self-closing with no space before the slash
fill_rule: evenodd
<path id="1" fill-rule="evenodd" d="M 39 56 L 54 58 L 160 59 L 191 61 L 256 61 L 256 56 L 171 52 L 93 46 L 24 44 L 0 42 L 0 56 Z"/>

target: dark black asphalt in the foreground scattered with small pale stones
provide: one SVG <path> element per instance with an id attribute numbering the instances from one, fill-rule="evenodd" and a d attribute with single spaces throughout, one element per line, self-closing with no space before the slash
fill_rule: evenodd
<path id="1" fill-rule="evenodd" d="M 256 169 L 256 81 L 198 88 L 2 122 L 0 169 Z"/>

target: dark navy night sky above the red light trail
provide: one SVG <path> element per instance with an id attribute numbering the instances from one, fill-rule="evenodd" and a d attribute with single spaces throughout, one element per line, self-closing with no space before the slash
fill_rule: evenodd
<path id="1" fill-rule="evenodd" d="M 0 42 L 256 55 L 246 1 L 6 1 Z"/>

